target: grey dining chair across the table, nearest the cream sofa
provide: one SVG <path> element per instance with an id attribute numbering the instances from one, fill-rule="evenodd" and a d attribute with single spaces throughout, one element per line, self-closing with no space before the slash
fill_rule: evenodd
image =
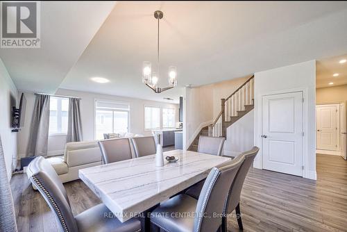
<path id="1" fill-rule="evenodd" d="M 98 142 L 104 163 L 113 163 L 132 158 L 128 138 L 115 138 Z"/>

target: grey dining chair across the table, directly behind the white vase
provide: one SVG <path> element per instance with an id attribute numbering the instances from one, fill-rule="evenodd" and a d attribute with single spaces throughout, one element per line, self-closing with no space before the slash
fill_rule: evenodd
<path id="1" fill-rule="evenodd" d="M 133 142 L 133 148 L 135 151 L 135 156 L 149 156 L 155 154 L 157 148 L 155 147 L 155 140 L 153 136 L 147 137 L 135 137 L 131 138 Z"/>

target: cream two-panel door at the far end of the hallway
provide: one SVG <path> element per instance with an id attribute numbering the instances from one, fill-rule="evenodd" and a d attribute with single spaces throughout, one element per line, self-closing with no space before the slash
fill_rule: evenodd
<path id="1" fill-rule="evenodd" d="M 316 106 L 317 149 L 337 151 L 339 104 Z"/>

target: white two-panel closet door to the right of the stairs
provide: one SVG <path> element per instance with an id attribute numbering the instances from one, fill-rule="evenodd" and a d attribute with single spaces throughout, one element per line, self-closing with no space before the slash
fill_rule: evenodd
<path id="1" fill-rule="evenodd" d="M 262 167 L 303 176 L 303 92 L 262 97 Z"/>

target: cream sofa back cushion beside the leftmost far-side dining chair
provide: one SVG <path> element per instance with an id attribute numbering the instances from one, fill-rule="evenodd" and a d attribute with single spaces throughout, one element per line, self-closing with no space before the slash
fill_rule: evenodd
<path id="1" fill-rule="evenodd" d="M 69 167 L 101 161 L 101 150 L 98 147 L 67 151 L 66 163 Z"/>

